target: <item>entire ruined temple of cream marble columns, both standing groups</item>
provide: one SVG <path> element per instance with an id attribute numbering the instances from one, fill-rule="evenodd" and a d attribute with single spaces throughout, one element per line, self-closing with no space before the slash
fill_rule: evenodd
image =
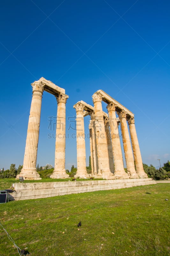
<path id="1" fill-rule="evenodd" d="M 68 178 L 69 175 L 65 171 L 65 105 L 69 96 L 65 94 L 63 88 L 43 77 L 31 85 L 33 97 L 28 121 L 24 163 L 17 178 L 22 176 L 25 180 L 41 179 L 36 171 L 36 161 L 43 91 L 53 94 L 57 100 L 55 168 L 50 178 Z M 94 106 L 82 100 L 73 106 L 77 115 L 77 173 L 75 178 L 87 178 L 90 175 L 94 178 L 107 180 L 147 178 L 137 140 L 134 114 L 102 90 L 95 92 L 92 95 L 92 100 Z M 102 100 L 107 103 L 108 113 L 102 110 Z M 116 113 L 118 117 L 116 117 Z M 84 117 L 87 115 L 91 117 L 89 133 L 92 174 L 90 175 L 86 171 L 85 156 Z M 127 172 L 125 172 L 123 165 L 119 124 L 121 125 Z"/>

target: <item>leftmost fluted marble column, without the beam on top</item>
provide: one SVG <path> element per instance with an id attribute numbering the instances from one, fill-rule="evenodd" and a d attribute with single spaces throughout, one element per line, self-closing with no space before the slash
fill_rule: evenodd
<path id="1" fill-rule="evenodd" d="M 19 179 L 19 176 L 23 176 L 25 180 L 41 180 L 36 171 L 36 162 L 44 85 L 41 82 L 34 82 L 31 85 L 33 87 L 33 97 L 28 121 L 24 163 L 21 172 L 17 175 L 17 179 Z"/>

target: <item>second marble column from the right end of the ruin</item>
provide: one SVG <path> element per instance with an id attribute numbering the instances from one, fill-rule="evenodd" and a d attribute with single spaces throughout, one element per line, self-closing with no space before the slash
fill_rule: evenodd
<path id="1" fill-rule="evenodd" d="M 123 148 L 125 153 L 127 171 L 130 173 L 130 178 L 139 178 L 135 170 L 133 152 L 130 143 L 128 125 L 126 121 L 126 112 L 124 110 L 117 111 L 122 131 Z"/>

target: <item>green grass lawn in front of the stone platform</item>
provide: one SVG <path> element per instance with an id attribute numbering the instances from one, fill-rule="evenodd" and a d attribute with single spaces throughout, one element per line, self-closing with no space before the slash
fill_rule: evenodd
<path id="1" fill-rule="evenodd" d="M 168 256 L 169 204 L 161 183 L 11 201 L 0 204 L 0 221 L 30 256 Z M 0 237 L 0 256 L 19 255 L 2 228 Z"/>

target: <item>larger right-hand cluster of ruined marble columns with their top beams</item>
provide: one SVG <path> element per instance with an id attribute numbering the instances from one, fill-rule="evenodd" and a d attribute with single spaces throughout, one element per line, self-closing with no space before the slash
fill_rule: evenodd
<path id="1" fill-rule="evenodd" d="M 76 109 L 78 127 L 78 170 L 75 177 L 89 176 L 86 172 L 85 163 L 84 116 L 90 115 L 89 132 L 92 176 L 103 179 L 147 178 L 147 174 L 143 169 L 142 157 L 137 140 L 134 114 L 102 90 L 95 92 L 92 95 L 92 99 L 94 107 L 82 100 L 73 106 Z M 108 115 L 102 110 L 102 100 L 107 103 Z M 116 113 L 119 116 L 118 118 L 116 118 Z M 121 125 L 127 173 L 123 166 L 118 131 L 119 123 Z M 129 130 L 127 123 L 129 124 Z"/>

